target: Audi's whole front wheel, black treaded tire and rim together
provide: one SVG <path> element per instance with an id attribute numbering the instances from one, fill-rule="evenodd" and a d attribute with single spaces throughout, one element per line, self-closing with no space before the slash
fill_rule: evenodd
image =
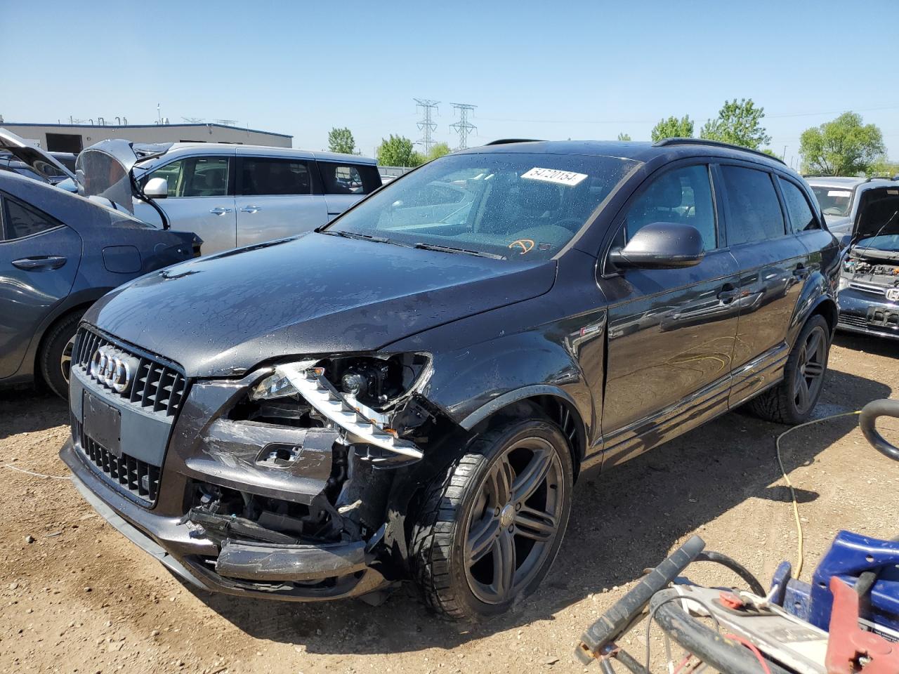
<path id="1" fill-rule="evenodd" d="M 507 421 L 476 439 L 415 514 L 410 567 L 425 605 L 478 621 L 536 590 L 565 536 L 573 475 L 568 442 L 550 421 Z"/>

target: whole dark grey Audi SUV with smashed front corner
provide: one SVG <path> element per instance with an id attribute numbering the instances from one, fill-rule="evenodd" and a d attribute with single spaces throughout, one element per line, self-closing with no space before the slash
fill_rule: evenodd
<path id="1" fill-rule="evenodd" d="M 693 139 L 506 141 L 315 232 L 185 262 L 85 315 L 61 457 L 185 581 L 502 613 L 576 477 L 751 401 L 805 420 L 839 246 L 805 182 Z"/>

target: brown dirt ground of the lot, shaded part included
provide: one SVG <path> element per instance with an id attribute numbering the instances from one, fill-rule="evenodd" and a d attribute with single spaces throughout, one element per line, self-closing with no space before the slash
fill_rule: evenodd
<path id="1" fill-rule="evenodd" d="M 830 367 L 818 416 L 897 396 L 899 344 L 838 336 Z M 734 412 L 608 474 L 583 477 L 547 580 L 511 615 L 485 625 L 435 620 L 411 589 L 379 607 L 212 595 L 175 580 L 94 515 L 66 479 L 8 467 L 65 476 L 57 452 L 66 424 L 66 404 L 50 395 L 0 394 L 2 672 L 582 671 L 572 651 L 583 630 L 691 534 L 763 582 L 796 557 L 774 453 L 785 428 Z M 899 444 L 899 423 L 884 426 Z M 801 501 L 804 580 L 840 528 L 895 536 L 899 466 L 868 447 L 856 417 L 798 430 L 783 453 Z M 737 583 L 708 563 L 689 575 Z M 661 665 L 659 633 L 654 628 L 650 643 Z M 642 634 L 630 639 L 641 660 Z"/>

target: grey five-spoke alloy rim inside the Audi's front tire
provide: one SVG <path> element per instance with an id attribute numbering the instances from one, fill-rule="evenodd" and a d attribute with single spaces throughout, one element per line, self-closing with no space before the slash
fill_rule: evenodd
<path id="1" fill-rule="evenodd" d="M 498 457 L 468 521 L 465 570 L 477 599 L 498 604 L 528 586 L 558 536 L 562 463 L 546 439 L 525 438 Z"/>

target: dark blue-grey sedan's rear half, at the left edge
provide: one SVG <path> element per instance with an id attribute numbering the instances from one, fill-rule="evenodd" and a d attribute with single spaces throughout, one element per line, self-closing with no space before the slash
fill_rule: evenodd
<path id="1" fill-rule="evenodd" d="M 120 283 L 199 253 L 196 235 L 0 172 L 0 385 L 40 378 L 67 396 L 85 309 Z"/>

